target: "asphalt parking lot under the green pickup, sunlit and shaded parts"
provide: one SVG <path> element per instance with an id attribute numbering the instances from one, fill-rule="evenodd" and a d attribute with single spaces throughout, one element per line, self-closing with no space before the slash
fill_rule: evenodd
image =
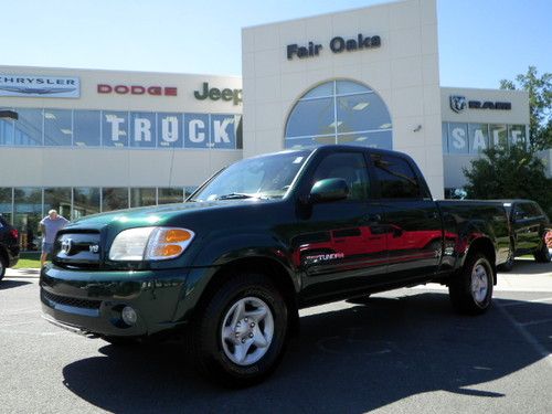
<path id="1" fill-rule="evenodd" d="M 302 310 L 277 372 L 237 391 L 198 378 L 182 343 L 60 330 L 38 294 L 32 273 L 0 283 L 1 413 L 552 412 L 552 264 L 518 263 L 482 317 L 433 285 Z"/>

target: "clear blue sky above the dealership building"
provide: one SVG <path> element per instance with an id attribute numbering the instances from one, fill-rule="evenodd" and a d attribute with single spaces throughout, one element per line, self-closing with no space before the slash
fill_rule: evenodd
<path id="1" fill-rule="evenodd" d="M 242 28 L 382 2 L 0 0 L 0 65 L 240 76 Z M 551 17 L 552 0 L 437 0 L 440 85 L 552 72 Z"/>

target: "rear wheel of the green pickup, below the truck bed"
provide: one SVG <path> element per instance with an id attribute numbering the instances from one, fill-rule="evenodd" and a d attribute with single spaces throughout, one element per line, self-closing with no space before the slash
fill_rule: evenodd
<path id="1" fill-rule="evenodd" d="M 482 254 L 468 256 L 459 274 L 448 285 L 450 301 L 461 314 L 480 315 L 492 302 L 493 272 Z"/>

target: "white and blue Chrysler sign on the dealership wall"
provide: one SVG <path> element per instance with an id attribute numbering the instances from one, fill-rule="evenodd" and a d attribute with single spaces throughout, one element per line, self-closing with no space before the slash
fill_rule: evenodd
<path id="1" fill-rule="evenodd" d="M 0 74 L 0 96 L 78 98 L 78 77 Z"/>

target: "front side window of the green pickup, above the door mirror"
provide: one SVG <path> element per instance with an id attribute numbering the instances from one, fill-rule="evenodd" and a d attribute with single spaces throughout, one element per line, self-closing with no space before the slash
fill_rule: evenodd
<path id="1" fill-rule="evenodd" d="M 341 152 L 327 156 L 318 166 L 312 184 L 327 178 L 341 178 L 349 185 L 348 200 L 368 200 L 369 179 L 364 156 L 360 152 Z"/>

